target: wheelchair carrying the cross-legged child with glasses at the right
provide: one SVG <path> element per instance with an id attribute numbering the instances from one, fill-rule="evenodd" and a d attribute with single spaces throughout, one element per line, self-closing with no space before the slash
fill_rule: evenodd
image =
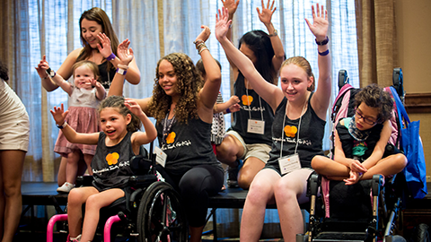
<path id="1" fill-rule="evenodd" d="M 392 86 L 401 98 L 402 71 L 395 68 L 392 73 Z M 339 72 L 339 90 L 348 83 L 347 71 Z M 351 95 L 356 94 L 352 89 Z M 344 100 L 342 97 L 340 100 Z M 347 107 L 347 117 L 351 117 L 350 105 L 334 103 L 333 111 Z M 336 110 L 337 112 L 339 109 Z M 334 121 L 334 113 L 332 121 Z M 304 241 L 407 241 L 395 235 L 402 224 L 400 210 L 405 208 L 409 191 L 402 172 L 393 177 L 383 178 L 374 175 L 373 179 L 361 180 L 355 185 L 346 186 L 343 181 L 329 181 L 317 173 L 308 179 L 307 195 L 310 197 L 309 226 L 304 234 L 296 235 L 296 242 Z M 417 238 L 411 241 L 429 241 L 426 224 L 418 225 Z M 418 239 L 419 238 L 419 239 Z M 410 241 L 410 240 L 409 240 Z"/>

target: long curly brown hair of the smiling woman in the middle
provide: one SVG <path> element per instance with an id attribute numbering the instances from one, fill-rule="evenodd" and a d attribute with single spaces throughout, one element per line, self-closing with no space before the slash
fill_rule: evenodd
<path id="1" fill-rule="evenodd" d="M 159 66 L 163 60 L 172 64 L 177 78 L 175 91 L 179 93 L 180 99 L 175 106 L 175 119 L 187 124 L 190 117 L 198 118 L 198 92 L 204 82 L 191 58 L 183 53 L 169 54 L 157 62 L 153 98 L 148 104 L 148 113 L 160 124 L 172 104 L 172 97 L 159 85 Z"/>

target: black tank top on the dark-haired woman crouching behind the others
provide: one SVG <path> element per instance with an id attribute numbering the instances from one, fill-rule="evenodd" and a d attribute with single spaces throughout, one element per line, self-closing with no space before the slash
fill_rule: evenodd
<path id="1" fill-rule="evenodd" d="M 254 90 L 247 90 L 244 84 L 244 76 L 238 73 L 238 78 L 233 84 L 234 94 L 240 98 L 240 110 L 234 112 L 232 129 L 242 136 L 245 143 L 266 143 L 271 145 L 271 126 L 274 122 L 274 111 L 269 104 L 259 97 L 258 93 Z M 249 97 L 247 98 L 247 92 Z M 247 105 L 247 99 L 251 101 L 250 106 Z M 260 99 L 260 100 L 259 100 Z M 261 103 L 261 108 L 260 108 Z M 250 112 L 249 112 L 250 110 Z M 261 110 L 261 111 L 260 111 Z M 257 119 L 265 121 L 264 134 L 252 134 L 247 132 L 248 120 Z"/>

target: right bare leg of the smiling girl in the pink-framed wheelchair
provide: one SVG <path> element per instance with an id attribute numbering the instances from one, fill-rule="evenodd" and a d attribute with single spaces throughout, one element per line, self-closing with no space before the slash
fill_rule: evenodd
<path id="1" fill-rule="evenodd" d="M 81 237 L 81 241 L 92 241 L 96 233 L 97 224 L 99 223 L 99 212 L 101 208 L 110 205 L 110 203 L 113 203 L 123 196 L 123 190 L 113 188 L 99 194 L 93 194 L 87 199 L 85 203 L 83 236 Z"/>

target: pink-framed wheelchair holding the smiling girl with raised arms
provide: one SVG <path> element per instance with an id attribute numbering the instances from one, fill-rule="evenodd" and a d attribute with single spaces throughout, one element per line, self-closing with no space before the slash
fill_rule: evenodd
<path id="1" fill-rule="evenodd" d="M 118 235 L 138 242 L 187 241 L 188 224 L 181 208 L 180 194 L 168 183 L 157 181 L 153 143 L 150 154 L 141 151 L 130 160 L 130 166 L 136 173 L 128 179 L 130 188 L 124 197 L 101 209 L 96 234 L 101 234 L 104 242 L 115 241 Z M 76 185 L 91 186 L 91 182 L 91 176 L 78 177 Z M 64 221 L 66 228 L 66 220 L 66 212 L 51 217 L 47 242 L 53 241 L 56 222 Z M 60 232 L 67 233 L 66 229 Z"/>

